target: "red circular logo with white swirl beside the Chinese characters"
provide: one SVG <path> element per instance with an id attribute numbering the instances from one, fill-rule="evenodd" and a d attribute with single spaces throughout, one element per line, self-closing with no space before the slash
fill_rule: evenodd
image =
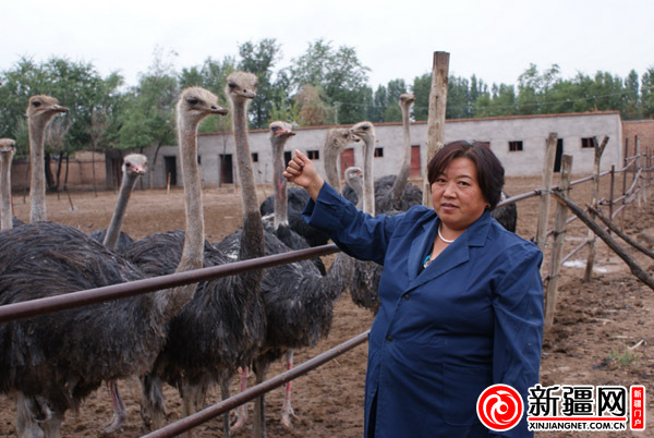
<path id="1" fill-rule="evenodd" d="M 508 385 L 492 385 L 477 399 L 477 415 L 491 430 L 509 430 L 522 418 L 520 393 Z"/>

